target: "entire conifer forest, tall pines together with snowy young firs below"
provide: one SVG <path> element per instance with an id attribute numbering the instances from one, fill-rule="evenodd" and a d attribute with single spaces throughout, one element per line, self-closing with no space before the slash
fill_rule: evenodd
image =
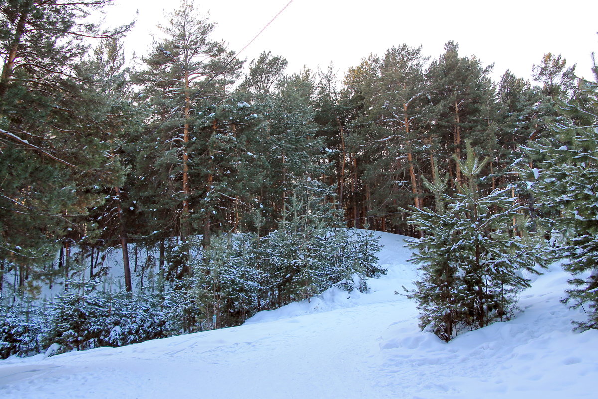
<path id="1" fill-rule="evenodd" d="M 493 81 L 447 41 L 287 71 L 238 59 L 192 0 L 126 62 L 130 26 L 86 19 L 112 1 L 0 1 L 1 358 L 365 292 L 374 232 L 413 237 L 403 294 L 447 342 L 558 259 L 590 313 L 573 327 L 598 328 L 596 63 Z"/>

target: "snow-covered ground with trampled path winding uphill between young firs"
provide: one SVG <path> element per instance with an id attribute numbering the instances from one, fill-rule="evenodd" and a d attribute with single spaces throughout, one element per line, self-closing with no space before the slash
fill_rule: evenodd
<path id="1" fill-rule="evenodd" d="M 417 328 L 404 237 L 382 234 L 388 275 L 371 293 L 328 290 L 244 325 L 0 361 L 0 398 L 594 398 L 598 331 L 571 331 L 553 266 L 523 312 L 449 343 Z"/>

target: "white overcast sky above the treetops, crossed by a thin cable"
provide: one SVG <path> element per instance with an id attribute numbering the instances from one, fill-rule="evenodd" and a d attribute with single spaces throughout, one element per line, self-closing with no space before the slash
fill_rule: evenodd
<path id="1" fill-rule="evenodd" d="M 213 39 L 239 51 L 288 2 L 196 0 L 196 9 L 216 23 Z M 137 19 L 126 46 L 142 56 L 155 26 L 178 6 L 178 0 L 117 0 L 106 20 Z M 495 63 L 495 80 L 507 69 L 529 79 L 532 65 L 548 52 L 562 54 L 568 65 L 577 64 L 579 76 L 590 78 L 590 53 L 598 53 L 597 15 L 596 0 L 294 0 L 240 58 L 271 51 L 288 60 L 287 73 L 304 65 L 326 69 L 332 62 L 341 78 L 370 53 L 421 44 L 422 53 L 434 58 L 453 40 L 460 55 Z"/>

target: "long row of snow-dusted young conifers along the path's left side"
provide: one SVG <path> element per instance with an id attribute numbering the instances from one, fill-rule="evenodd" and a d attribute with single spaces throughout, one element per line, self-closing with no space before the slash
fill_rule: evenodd
<path id="1" fill-rule="evenodd" d="M 347 231 L 335 215 L 314 209 L 294 197 L 279 229 L 263 237 L 221 234 L 208 248 L 197 236 L 173 240 L 164 246 L 163 266 L 141 269 L 144 284 L 140 276 L 129 293 L 108 276 L 70 279 L 68 290 L 45 301 L 44 310 L 7 304 L 0 353 L 127 345 L 239 325 L 260 310 L 310 299 L 335 284 L 367 291 L 366 278 L 385 273 L 377 265 L 377 237 Z"/>

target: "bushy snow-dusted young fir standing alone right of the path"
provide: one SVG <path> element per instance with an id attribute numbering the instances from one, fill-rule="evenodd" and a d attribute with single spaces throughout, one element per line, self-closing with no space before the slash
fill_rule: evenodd
<path id="1" fill-rule="evenodd" d="M 483 195 L 478 189 L 484 162 L 467 145 L 465 161 L 457 160 L 463 184 L 458 192 L 444 193 L 447 179 L 438 173 L 426 186 L 437 195 L 436 210 L 411 208 L 409 221 L 425 233 L 411 243 L 418 251 L 422 279 L 409 294 L 420 309 L 420 327 L 429 328 L 445 341 L 462 330 L 481 328 L 497 319 L 514 316 L 517 294 L 529 287 L 520 270 L 537 273 L 544 264 L 533 237 L 521 238 L 521 206 L 508 189 Z"/>

